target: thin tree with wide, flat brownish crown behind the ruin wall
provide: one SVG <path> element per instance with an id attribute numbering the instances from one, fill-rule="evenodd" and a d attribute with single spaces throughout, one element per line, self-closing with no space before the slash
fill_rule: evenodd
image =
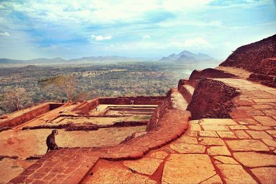
<path id="1" fill-rule="evenodd" d="M 77 88 L 77 76 L 75 75 L 58 75 L 39 80 L 39 84 L 44 87 L 54 85 L 57 90 L 61 90 L 66 93 L 69 101 L 73 101 L 75 90 Z"/>

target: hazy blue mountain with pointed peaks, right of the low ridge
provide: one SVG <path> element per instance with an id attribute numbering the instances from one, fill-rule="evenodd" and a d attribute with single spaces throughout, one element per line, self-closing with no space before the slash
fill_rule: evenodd
<path id="1" fill-rule="evenodd" d="M 207 54 L 198 53 L 195 54 L 188 50 L 184 50 L 179 54 L 170 54 L 168 57 L 162 57 L 159 61 L 169 61 L 175 63 L 199 63 L 199 62 L 208 62 L 214 61 L 216 62 L 217 59 L 210 57 Z"/>

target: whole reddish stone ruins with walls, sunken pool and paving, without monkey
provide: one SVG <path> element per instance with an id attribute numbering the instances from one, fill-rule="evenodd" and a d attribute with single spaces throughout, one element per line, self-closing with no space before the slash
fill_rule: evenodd
<path id="1" fill-rule="evenodd" d="M 22 169 L 7 182 L 275 183 L 275 57 L 276 35 L 194 71 L 166 96 L 8 114 L 0 119 L 2 159 L 17 152 Z M 61 148 L 45 154 L 52 129 Z"/>

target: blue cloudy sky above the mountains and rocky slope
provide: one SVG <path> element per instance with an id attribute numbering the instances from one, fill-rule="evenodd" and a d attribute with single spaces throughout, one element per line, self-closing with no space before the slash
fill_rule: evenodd
<path id="1" fill-rule="evenodd" d="M 160 58 L 189 50 L 224 60 L 273 34 L 273 0 L 0 0 L 0 58 Z"/>

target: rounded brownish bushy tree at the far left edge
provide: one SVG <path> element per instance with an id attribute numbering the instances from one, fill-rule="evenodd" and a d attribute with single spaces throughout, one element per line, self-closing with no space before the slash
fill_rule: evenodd
<path id="1" fill-rule="evenodd" d="M 3 105 L 10 111 L 20 110 L 23 103 L 28 101 L 25 88 L 10 89 L 3 95 Z"/>

